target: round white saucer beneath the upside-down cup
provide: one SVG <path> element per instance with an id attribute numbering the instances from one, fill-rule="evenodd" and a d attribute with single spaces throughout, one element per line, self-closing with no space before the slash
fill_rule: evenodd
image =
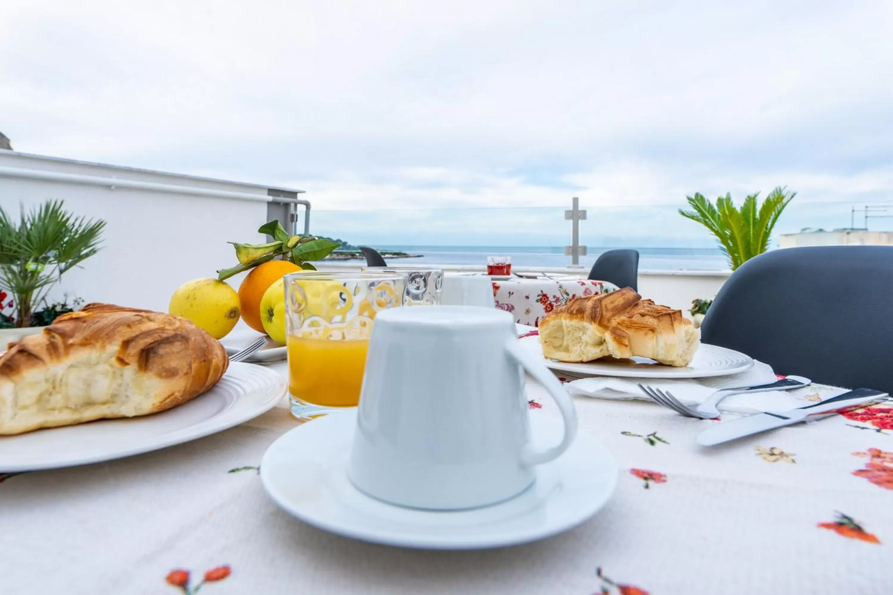
<path id="1" fill-rule="evenodd" d="M 480 550 L 536 541 L 580 525 L 617 484 L 611 455 L 586 434 L 537 467 L 529 490 L 500 504 L 459 511 L 403 508 L 374 500 L 347 479 L 355 411 L 321 417 L 283 434 L 263 455 L 263 487 L 288 513 L 330 533 L 423 550 Z M 554 444 L 561 422 L 530 416 L 535 442 Z"/>

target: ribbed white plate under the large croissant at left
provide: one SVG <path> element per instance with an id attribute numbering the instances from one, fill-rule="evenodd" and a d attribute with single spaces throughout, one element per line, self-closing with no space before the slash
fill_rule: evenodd
<path id="1" fill-rule="evenodd" d="M 0 471 L 85 465 L 188 442 L 261 415 L 287 390 L 270 369 L 230 363 L 210 391 L 161 413 L 0 436 Z"/>

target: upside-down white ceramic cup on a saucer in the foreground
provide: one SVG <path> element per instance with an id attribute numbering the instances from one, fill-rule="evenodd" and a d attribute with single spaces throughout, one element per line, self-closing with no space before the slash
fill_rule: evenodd
<path id="1" fill-rule="evenodd" d="M 562 441 L 530 445 L 523 371 L 555 399 Z M 451 510 L 508 500 L 534 482 L 577 433 L 573 401 L 504 311 L 396 308 L 375 318 L 348 465 L 356 488 L 412 508 Z"/>

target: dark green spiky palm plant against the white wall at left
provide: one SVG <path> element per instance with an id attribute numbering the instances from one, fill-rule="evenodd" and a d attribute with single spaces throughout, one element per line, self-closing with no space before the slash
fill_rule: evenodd
<path id="1" fill-rule="evenodd" d="M 13 293 L 15 326 L 29 326 L 33 305 L 63 274 L 99 250 L 105 222 L 75 218 L 62 201 L 48 201 L 18 222 L 0 208 L 0 286 Z"/>

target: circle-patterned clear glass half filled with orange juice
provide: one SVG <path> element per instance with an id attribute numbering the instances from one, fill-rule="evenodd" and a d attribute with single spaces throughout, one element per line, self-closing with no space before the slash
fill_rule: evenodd
<path id="1" fill-rule="evenodd" d="M 288 391 L 300 419 L 360 401 L 377 312 L 403 305 L 399 273 L 300 271 L 285 276 Z"/>

